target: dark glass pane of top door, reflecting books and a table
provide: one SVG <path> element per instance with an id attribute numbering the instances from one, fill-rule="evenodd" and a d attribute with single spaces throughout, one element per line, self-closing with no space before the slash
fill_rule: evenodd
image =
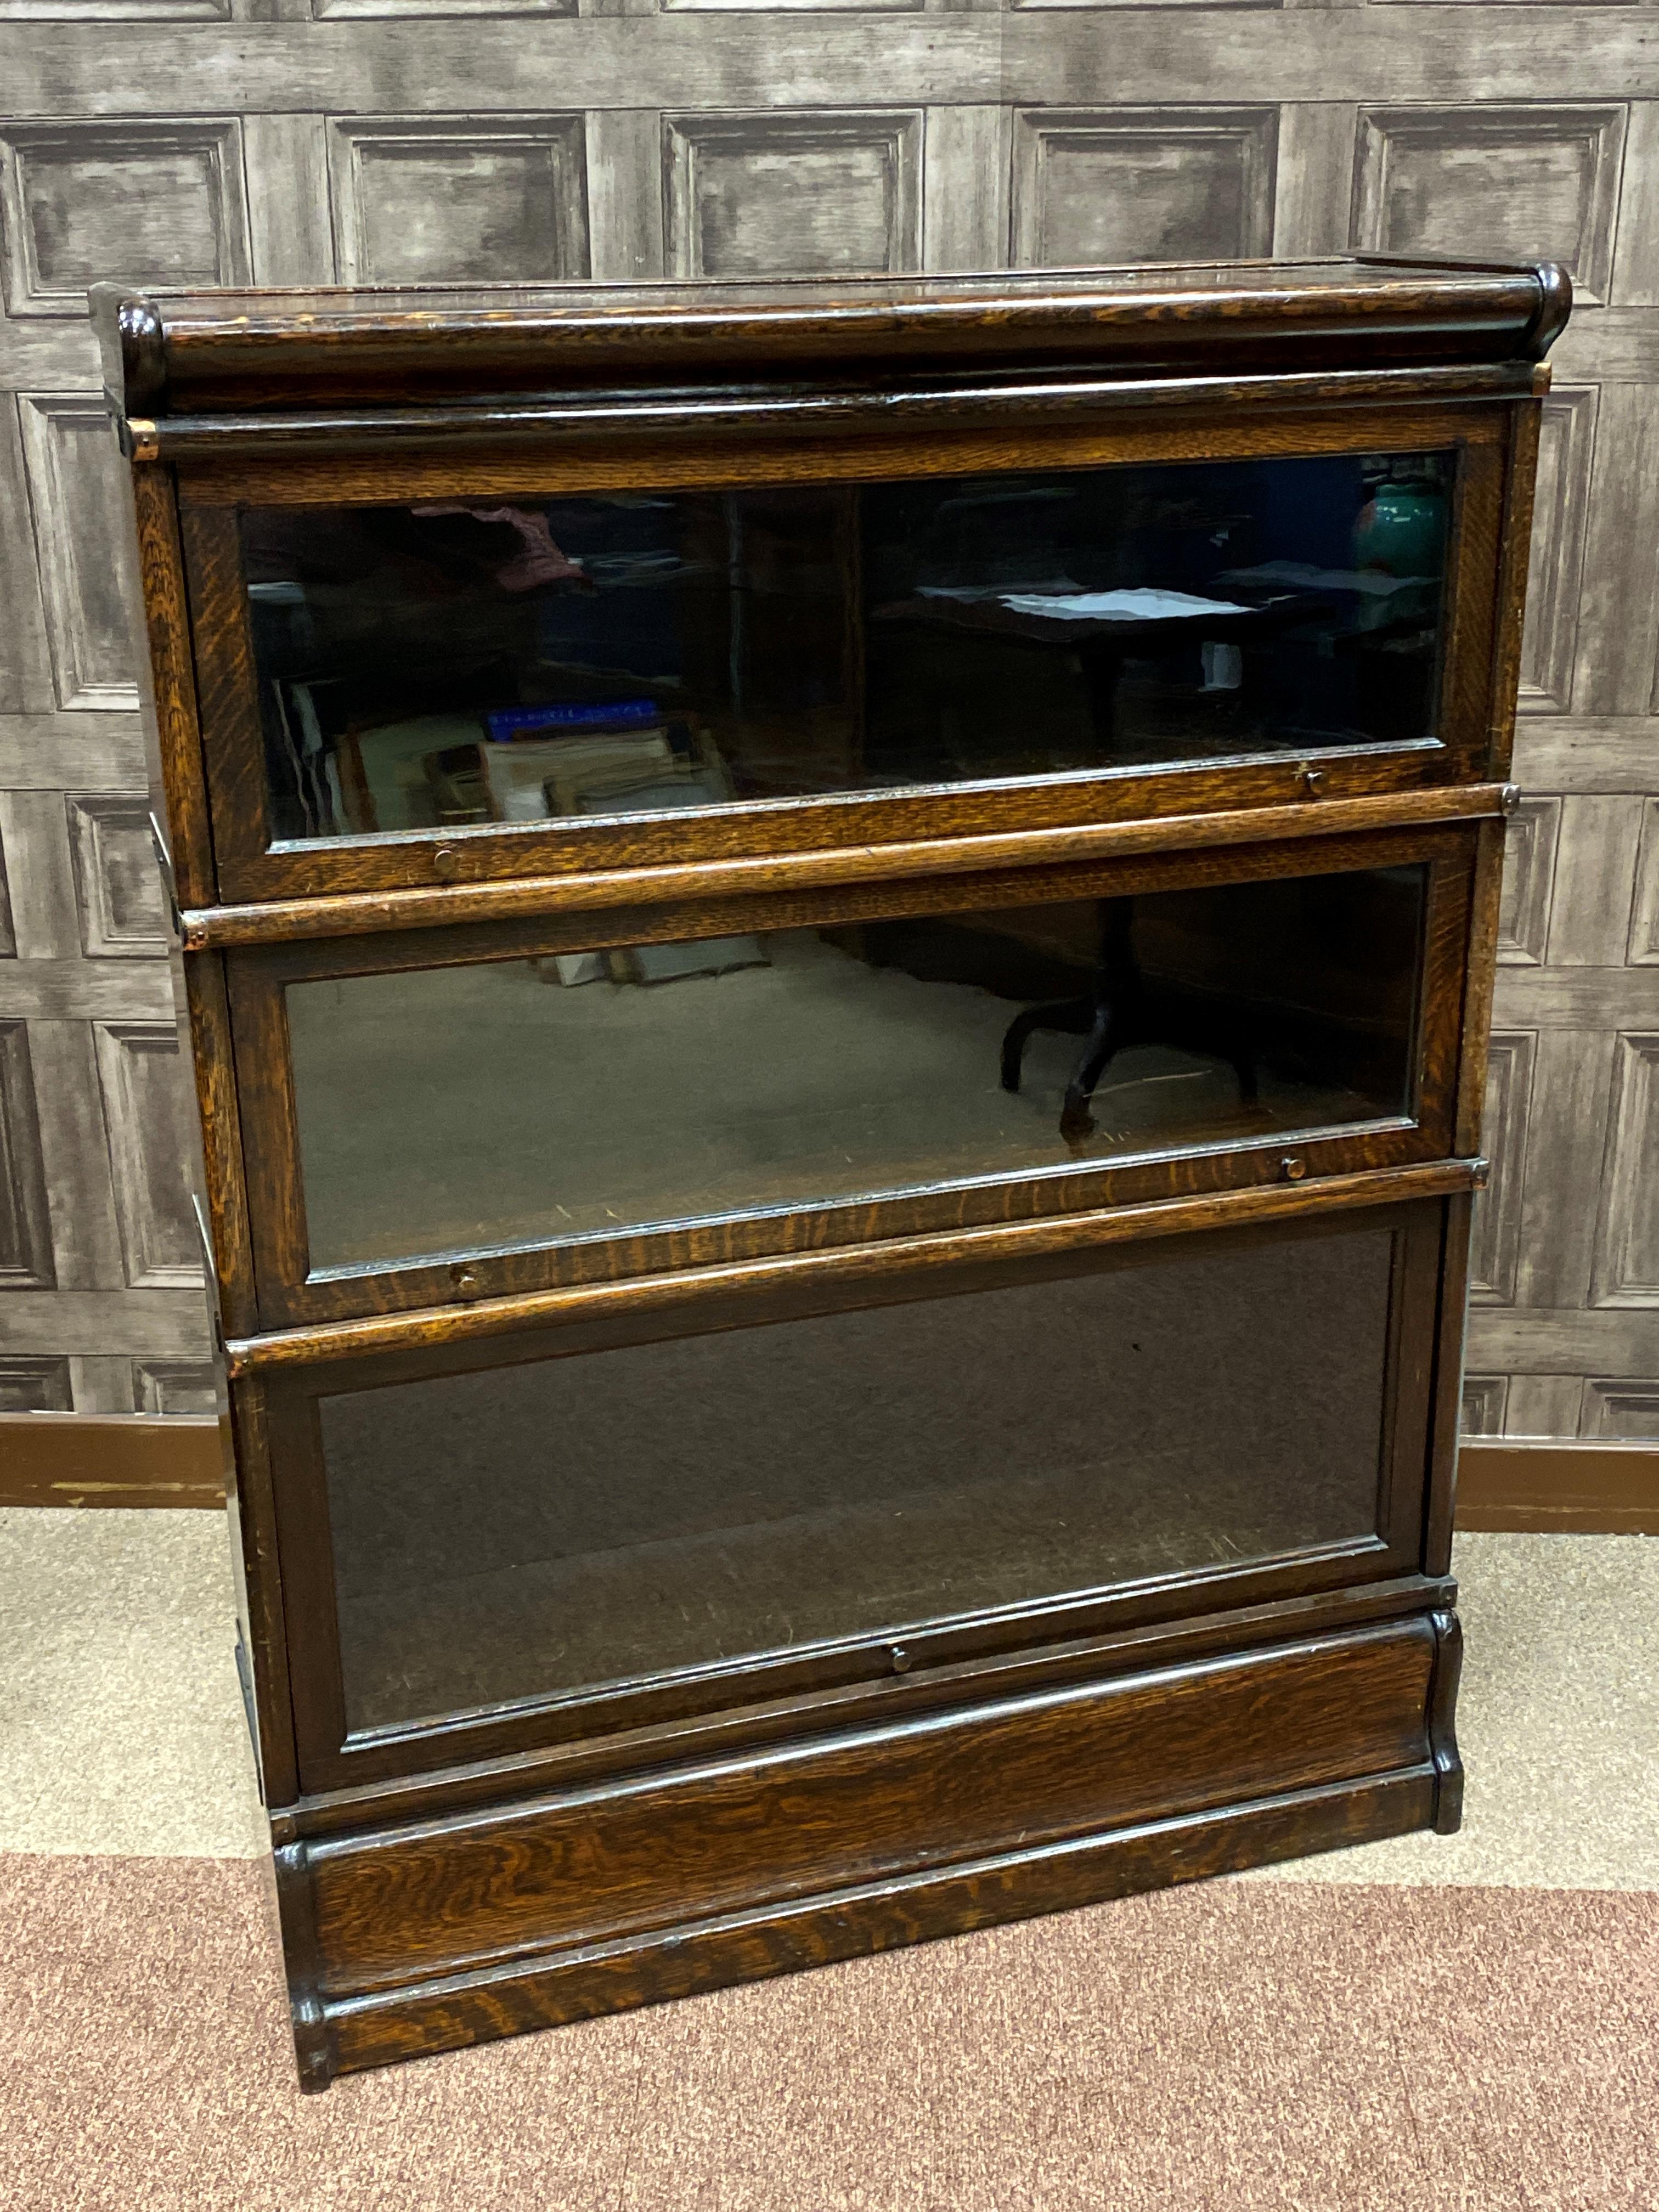
<path id="1" fill-rule="evenodd" d="M 1451 456 L 243 515 L 276 838 L 1433 734 Z"/>

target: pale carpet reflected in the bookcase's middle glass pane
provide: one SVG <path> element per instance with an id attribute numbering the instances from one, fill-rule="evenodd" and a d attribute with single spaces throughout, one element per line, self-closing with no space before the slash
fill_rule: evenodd
<path id="1" fill-rule="evenodd" d="M 812 929 L 765 945 L 768 967 L 655 991 L 562 989 L 526 960 L 290 989 L 312 1265 L 1077 1164 L 1060 1137 L 1077 1037 L 1040 1031 L 1009 1093 L 1018 1000 L 865 967 Z M 1294 1079 L 1272 1053 L 1259 1077 L 1248 1108 L 1223 1060 L 1133 1046 L 1079 1157 L 1261 1141 L 1400 1104 L 1398 1079 L 1365 1097 L 1332 1071 Z"/>

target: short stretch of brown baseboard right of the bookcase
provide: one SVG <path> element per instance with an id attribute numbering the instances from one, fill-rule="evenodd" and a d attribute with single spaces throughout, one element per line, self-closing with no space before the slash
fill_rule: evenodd
<path id="1" fill-rule="evenodd" d="M 1659 1444 L 1471 1438 L 1458 1526 L 1526 1535 L 1659 1535 Z"/>

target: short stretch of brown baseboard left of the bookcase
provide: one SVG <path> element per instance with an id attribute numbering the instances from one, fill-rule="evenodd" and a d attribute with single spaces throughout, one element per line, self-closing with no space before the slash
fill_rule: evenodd
<path id="1" fill-rule="evenodd" d="M 184 1413 L 0 1413 L 0 1506 L 223 1506 L 219 1422 Z"/>

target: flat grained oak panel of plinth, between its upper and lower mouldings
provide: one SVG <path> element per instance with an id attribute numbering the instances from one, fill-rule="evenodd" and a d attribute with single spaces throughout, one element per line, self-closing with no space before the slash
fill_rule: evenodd
<path id="1" fill-rule="evenodd" d="M 1425 1621 L 312 1851 L 330 1995 L 1427 1759 Z M 925 1829 L 918 1812 L 927 1807 Z"/>

